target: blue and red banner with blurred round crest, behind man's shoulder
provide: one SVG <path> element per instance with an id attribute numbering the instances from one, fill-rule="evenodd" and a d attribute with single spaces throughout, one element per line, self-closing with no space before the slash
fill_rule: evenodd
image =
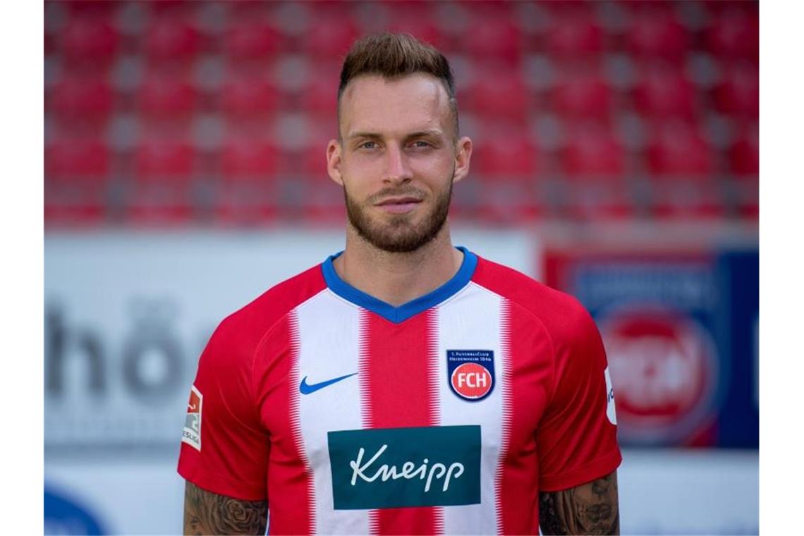
<path id="1" fill-rule="evenodd" d="M 758 448 L 759 255 L 548 250 L 609 358 L 625 446 Z"/>

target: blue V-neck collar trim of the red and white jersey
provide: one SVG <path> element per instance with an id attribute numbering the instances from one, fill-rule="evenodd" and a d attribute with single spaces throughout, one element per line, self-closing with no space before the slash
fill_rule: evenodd
<path id="1" fill-rule="evenodd" d="M 474 268 L 478 266 L 478 256 L 462 246 L 458 246 L 457 249 L 463 252 L 463 262 L 461 263 L 461 268 L 458 269 L 452 279 L 432 292 L 417 297 L 415 300 L 408 301 L 408 303 L 400 305 L 399 307 L 394 307 L 382 300 L 378 300 L 342 280 L 340 276 L 338 276 L 338 273 L 335 272 L 332 261 L 337 259 L 343 252 L 335 253 L 325 260 L 322 264 L 322 271 L 324 272 L 326 286 L 339 297 L 342 297 L 346 301 L 351 301 L 351 303 L 363 309 L 368 309 L 372 313 L 379 314 L 380 317 L 388 321 L 399 324 L 400 322 L 408 320 L 410 317 L 414 317 L 446 301 L 470 282 L 474 275 Z"/>

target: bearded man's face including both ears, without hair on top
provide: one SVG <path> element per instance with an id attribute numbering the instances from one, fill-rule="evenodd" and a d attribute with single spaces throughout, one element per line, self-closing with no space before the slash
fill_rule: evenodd
<path id="1" fill-rule="evenodd" d="M 456 145 L 449 97 L 433 76 L 359 76 L 341 97 L 339 142 L 327 149 L 352 227 L 375 248 L 412 252 L 441 231 L 471 142 Z M 462 142 L 462 144 L 461 144 Z M 465 145 L 468 145 L 466 147 Z"/>

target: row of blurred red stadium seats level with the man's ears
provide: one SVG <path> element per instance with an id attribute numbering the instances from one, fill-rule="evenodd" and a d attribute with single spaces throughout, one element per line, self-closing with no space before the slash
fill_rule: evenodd
<path id="1" fill-rule="evenodd" d="M 555 149 L 539 145 L 525 131 L 500 129 L 498 136 L 486 131 L 475 139 L 472 169 L 481 178 L 527 182 L 545 174 L 572 180 L 642 172 L 657 182 L 679 176 L 707 182 L 724 174 L 752 180 L 759 170 L 756 125 L 746 128 L 722 152 L 683 122 L 654 125 L 650 141 L 639 150 L 626 149 L 609 129 L 595 124 L 570 125 Z M 250 180 L 252 175 L 271 180 L 279 174 L 322 174 L 326 141 L 321 137 L 318 143 L 281 147 L 267 138 L 228 137 L 211 147 L 189 140 L 142 137 L 113 150 L 99 139 L 68 139 L 46 145 L 45 163 L 47 177 L 53 180 L 102 180 L 109 178 L 113 168 L 142 180 L 190 181 L 199 173 L 229 180 Z"/>

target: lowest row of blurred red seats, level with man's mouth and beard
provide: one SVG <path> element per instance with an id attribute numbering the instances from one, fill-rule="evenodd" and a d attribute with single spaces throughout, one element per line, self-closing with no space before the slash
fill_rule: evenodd
<path id="1" fill-rule="evenodd" d="M 752 221 L 755 185 L 741 182 L 464 182 L 452 214 L 482 224 L 575 221 Z M 273 182 L 126 182 L 56 184 L 45 195 L 46 228 L 339 224 L 343 192 L 328 179 Z"/>

